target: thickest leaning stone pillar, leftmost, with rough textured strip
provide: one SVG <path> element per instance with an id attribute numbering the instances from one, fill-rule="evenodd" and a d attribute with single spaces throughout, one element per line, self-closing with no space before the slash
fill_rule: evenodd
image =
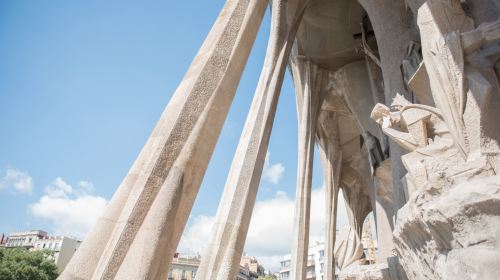
<path id="1" fill-rule="evenodd" d="M 265 1 L 227 1 L 129 174 L 60 279 L 166 278 L 265 7 Z"/>

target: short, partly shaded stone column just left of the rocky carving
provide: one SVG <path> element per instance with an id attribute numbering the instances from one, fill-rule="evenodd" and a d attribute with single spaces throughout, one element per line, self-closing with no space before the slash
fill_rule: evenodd
<path id="1" fill-rule="evenodd" d="M 387 262 L 387 258 L 393 256 L 394 243 L 392 231 L 394 223 L 392 217 L 392 175 L 391 160 L 383 161 L 375 170 L 375 200 L 377 223 L 377 245 L 378 260 Z"/>

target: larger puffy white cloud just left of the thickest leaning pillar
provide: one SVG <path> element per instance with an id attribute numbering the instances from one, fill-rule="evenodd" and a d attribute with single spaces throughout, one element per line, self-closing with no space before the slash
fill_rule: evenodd
<path id="1" fill-rule="evenodd" d="M 92 190 L 90 182 L 81 181 L 73 187 L 58 177 L 28 208 L 33 216 L 48 220 L 55 234 L 83 238 L 107 204 L 103 197 L 92 195 Z"/>

